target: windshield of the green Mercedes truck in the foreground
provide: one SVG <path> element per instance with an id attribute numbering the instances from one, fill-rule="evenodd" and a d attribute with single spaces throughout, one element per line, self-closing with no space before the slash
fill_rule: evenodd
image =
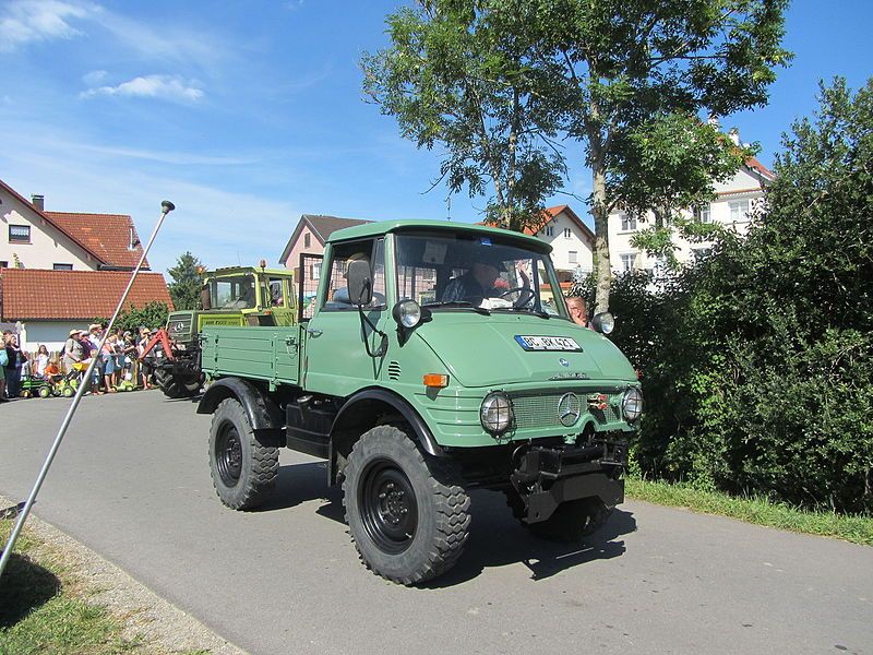
<path id="1" fill-rule="evenodd" d="M 397 291 L 431 309 L 566 317 L 548 255 L 490 235 L 400 234 Z M 558 300 L 555 301 L 555 298 Z"/>

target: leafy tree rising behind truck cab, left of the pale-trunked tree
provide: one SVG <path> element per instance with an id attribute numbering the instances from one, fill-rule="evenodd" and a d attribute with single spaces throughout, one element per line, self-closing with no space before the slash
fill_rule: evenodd
<path id="1" fill-rule="evenodd" d="M 561 184 L 559 105 L 547 71 L 528 63 L 534 44 L 479 4 L 424 0 L 390 14 L 392 46 L 363 57 L 363 90 L 404 138 L 445 148 L 433 187 L 489 195 L 487 221 L 523 231 L 539 227 L 543 198 Z"/>

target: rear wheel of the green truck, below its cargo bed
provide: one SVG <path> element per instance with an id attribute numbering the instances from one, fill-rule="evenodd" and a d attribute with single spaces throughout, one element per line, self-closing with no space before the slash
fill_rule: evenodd
<path id="1" fill-rule="evenodd" d="M 210 427 L 210 473 L 218 498 L 232 510 L 262 504 L 276 486 L 278 449 L 261 443 L 236 398 L 225 398 Z"/>

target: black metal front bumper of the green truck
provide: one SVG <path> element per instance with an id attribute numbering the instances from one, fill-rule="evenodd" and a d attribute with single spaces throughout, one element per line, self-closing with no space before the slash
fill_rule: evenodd
<path id="1" fill-rule="evenodd" d="M 530 448 L 510 476 L 527 523 L 548 520 L 562 502 L 596 498 L 608 509 L 624 502 L 624 462 L 603 444 Z"/>

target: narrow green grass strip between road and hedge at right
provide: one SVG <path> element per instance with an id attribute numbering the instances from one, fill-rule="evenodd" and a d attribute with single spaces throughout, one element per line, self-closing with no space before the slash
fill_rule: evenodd
<path id="1" fill-rule="evenodd" d="M 657 504 L 873 546 L 873 517 L 870 516 L 798 510 L 763 497 L 737 498 L 717 491 L 702 491 L 681 483 L 651 481 L 638 477 L 627 478 L 625 493 L 629 498 Z"/>

